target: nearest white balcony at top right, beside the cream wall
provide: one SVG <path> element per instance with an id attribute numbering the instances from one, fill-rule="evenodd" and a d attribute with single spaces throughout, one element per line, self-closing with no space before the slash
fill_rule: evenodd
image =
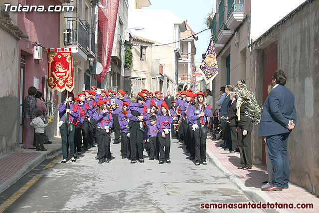
<path id="1" fill-rule="evenodd" d="M 236 3 L 237 1 L 237 3 Z M 242 0 L 228 0 L 227 7 L 227 21 L 226 25 L 229 29 L 234 30 L 239 26 L 241 21 L 245 18 L 244 3 Z"/>

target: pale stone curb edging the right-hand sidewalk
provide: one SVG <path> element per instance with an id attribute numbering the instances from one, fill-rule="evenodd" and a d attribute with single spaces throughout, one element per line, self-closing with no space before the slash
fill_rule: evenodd
<path id="1" fill-rule="evenodd" d="M 241 190 L 250 200 L 254 203 L 261 202 L 262 204 L 268 203 L 276 203 L 271 197 L 269 197 L 266 193 L 257 190 L 251 190 L 245 186 L 243 182 L 241 182 L 234 174 L 232 174 L 229 170 L 227 170 L 219 160 L 208 150 L 206 149 L 206 158 L 216 165 L 219 170 L 232 182 L 234 185 Z M 261 209 L 266 213 L 288 213 L 283 209 Z"/>

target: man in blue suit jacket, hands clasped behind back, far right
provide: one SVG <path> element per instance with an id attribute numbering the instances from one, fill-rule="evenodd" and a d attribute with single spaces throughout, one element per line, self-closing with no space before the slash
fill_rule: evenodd
<path id="1" fill-rule="evenodd" d="M 288 136 L 297 122 L 295 96 L 284 85 L 286 75 L 282 70 L 274 72 L 273 89 L 263 108 L 258 135 L 266 136 L 266 145 L 273 164 L 273 180 L 270 187 L 262 191 L 282 191 L 288 189 L 289 158 L 287 152 Z"/>

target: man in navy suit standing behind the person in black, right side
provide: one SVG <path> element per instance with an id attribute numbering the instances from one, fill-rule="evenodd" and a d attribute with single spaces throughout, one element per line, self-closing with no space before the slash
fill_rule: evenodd
<path id="1" fill-rule="evenodd" d="M 234 88 L 232 85 L 227 85 L 225 92 L 226 92 L 226 97 L 225 100 L 223 101 L 221 107 L 220 107 L 220 117 L 228 117 L 228 112 L 230 109 L 230 105 L 231 105 L 231 100 L 229 97 L 229 94 L 234 91 Z M 232 142 L 231 142 L 231 134 L 230 134 L 230 127 L 229 124 L 226 122 L 225 118 L 221 118 L 220 121 L 221 123 L 226 124 L 225 127 L 225 135 L 226 135 L 226 146 L 224 147 L 224 150 L 232 150 Z"/>

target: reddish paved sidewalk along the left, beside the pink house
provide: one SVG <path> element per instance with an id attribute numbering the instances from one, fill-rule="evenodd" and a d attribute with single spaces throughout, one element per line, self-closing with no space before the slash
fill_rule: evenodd
<path id="1" fill-rule="evenodd" d="M 0 158 L 0 194 L 26 173 L 42 163 L 47 157 L 61 151 L 61 138 L 51 138 L 52 144 L 44 144 L 46 152 L 24 149 L 9 153 Z"/>

